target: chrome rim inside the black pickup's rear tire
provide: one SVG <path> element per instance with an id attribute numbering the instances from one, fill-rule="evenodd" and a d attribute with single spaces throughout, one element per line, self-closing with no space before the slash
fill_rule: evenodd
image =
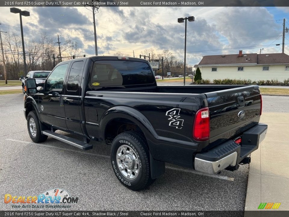
<path id="1" fill-rule="evenodd" d="M 117 166 L 127 179 L 138 177 L 139 161 L 131 147 L 122 145 L 117 149 Z"/>

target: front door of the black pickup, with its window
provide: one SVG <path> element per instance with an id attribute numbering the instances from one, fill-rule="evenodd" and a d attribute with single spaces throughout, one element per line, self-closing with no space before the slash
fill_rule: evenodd
<path id="1" fill-rule="evenodd" d="M 39 94 L 39 110 L 42 120 L 57 127 L 67 129 L 64 112 L 65 73 L 68 64 L 61 64 L 54 68 L 47 77 L 45 90 Z"/>

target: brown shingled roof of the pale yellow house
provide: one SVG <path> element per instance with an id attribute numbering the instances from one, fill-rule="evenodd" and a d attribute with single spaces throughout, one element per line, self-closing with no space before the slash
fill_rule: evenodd
<path id="1" fill-rule="evenodd" d="M 215 65 L 215 64 L 289 64 L 289 55 L 284 53 L 271 54 L 238 54 L 229 55 L 209 55 L 204 56 L 199 65 Z"/>

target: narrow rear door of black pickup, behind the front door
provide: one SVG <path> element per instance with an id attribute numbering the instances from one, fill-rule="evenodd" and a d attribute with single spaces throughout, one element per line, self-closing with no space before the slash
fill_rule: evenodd
<path id="1" fill-rule="evenodd" d="M 67 76 L 64 110 L 66 114 L 67 129 L 75 132 L 81 132 L 79 109 L 81 105 L 81 79 L 84 68 L 84 61 L 74 61 L 70 67 Z"/>

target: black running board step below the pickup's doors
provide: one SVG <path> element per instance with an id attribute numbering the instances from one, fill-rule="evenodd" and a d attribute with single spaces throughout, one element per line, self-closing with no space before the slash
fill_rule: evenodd
<path id="1" fill-rule="evenodd" d="M 42 134 L 47 135 L 49 137 L 52 137 L 54 139 L 60 140 L 61 142 L 70 144 L 70 145 L 75 146 L 77 148 L 80 148 L 82 150 L 92 149 L 91 144 L 84 143 L 82 141 L 79 141 L 79 140 L 55 133 L 53 131 L 45 130 L 45 131 L 42 131 Z"/>

